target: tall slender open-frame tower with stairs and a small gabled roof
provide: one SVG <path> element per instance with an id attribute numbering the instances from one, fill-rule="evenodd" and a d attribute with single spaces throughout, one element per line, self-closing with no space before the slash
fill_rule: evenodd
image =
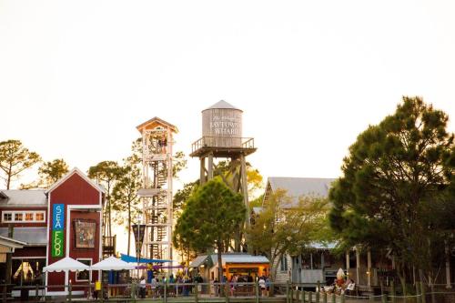
<path id="1" fill-rule="evenodd" d="M 141 256 L 172 259 L 172 145 L 177 127 L 154 117 L 136 127 L 142 134 L 143 224 Z"/>

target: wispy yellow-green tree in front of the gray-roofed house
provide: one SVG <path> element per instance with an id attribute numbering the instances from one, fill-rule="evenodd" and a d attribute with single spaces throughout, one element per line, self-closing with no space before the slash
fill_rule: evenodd
<path id="1" fill-rule="evenodd" d="M 332 240 L 327 230 L 329 202 L 322 197 L 288 197 L 286 190 L 273 192 L 262 211 L 253 217 L 248 228 L 248 245 L 265 255 L 272 268 L 271 278 L 277 276 L 278 260 L 285 253 L 298 254 L 313 241 Z M 274 266 L 275 265 L 275 266 Z"/>

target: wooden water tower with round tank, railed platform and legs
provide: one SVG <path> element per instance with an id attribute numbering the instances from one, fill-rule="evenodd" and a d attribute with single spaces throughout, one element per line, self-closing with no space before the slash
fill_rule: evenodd
<path id="1" fill-rule="evenodd" d="M 213 158 L 226 158 L 230 162 L 230 179 L 227 185 L 244 197 L 247 207 L 246 222 L 249 223 L 248 184 L 246 157 L 256 151 L 254 138 L 242 137 L 243 111 L 226 101 L 202 111 L 202 137 L 193 143 L 191 157 L 200 159 L 200 184 L 213 178 Z"/>

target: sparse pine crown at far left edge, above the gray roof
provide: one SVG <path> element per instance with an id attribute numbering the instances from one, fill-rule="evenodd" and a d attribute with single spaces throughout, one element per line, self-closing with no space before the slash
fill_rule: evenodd
<path id="1" fill-rule="evenodd" d="M 29 151 L 19 140 L 6 140 L 0 142 L 0 169 L 5 176 L 6 189 L 11 186 L 11 181 L 19 177 L 25 169 L 33 167 L 41 161 L 41 157 L 35 152 Z"/>

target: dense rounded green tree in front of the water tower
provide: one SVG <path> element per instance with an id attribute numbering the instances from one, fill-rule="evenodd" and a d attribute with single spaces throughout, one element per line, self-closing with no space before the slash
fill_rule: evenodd
<path id="1" fill-rule="evenodd" d="M 179 249 L 198 252 L 216 248 L 221 265 L 221 253 L 241 226 L 245 211 L 243 197 L 234 193 L 219 177 L 213 178 L 188 198 L 177 219 L 173 243 Z M 218 269 L 220 281 L 222 267 Z"/>

